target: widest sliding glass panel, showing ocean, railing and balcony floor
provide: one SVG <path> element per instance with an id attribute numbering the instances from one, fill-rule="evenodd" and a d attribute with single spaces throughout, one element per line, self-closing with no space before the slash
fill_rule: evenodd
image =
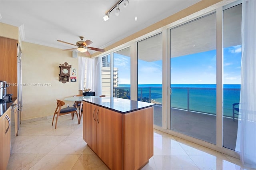
<path id="1" fill-rule="evenodd" d="M 171 130 L 216 144 L 216 13 L 170 30 Z"/>

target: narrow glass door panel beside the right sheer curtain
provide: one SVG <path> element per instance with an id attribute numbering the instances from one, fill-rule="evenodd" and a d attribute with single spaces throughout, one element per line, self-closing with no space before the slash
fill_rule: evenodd
<path id="1" fill-rule="evenodd" d="M 223 11 L 223 146 L 236 148 L 241 85 L 242 4 Z"/>

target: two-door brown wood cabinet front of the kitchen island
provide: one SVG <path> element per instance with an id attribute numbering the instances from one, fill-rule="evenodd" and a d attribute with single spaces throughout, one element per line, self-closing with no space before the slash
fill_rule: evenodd
<path id="1" fill-rule="evenodd" d="M 110 169 L 122 169 L 122 114 L 83 103 L 83 138 Z"/>

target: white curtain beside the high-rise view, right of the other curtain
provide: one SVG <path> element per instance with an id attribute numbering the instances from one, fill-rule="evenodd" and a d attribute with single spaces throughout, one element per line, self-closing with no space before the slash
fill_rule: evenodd
<path id="1" fill-rule="evenodd" d="M 95 91 L 96 96 L 102 95 L 102 79 L 101 79 L 101 57 L 87 58 L 87 72 L 86 72 L 86 88 Z"/>

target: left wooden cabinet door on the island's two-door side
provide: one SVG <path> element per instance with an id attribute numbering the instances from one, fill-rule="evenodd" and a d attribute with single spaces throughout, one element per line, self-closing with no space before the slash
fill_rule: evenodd
<path id="1" fill-rule="evenodd" d="M 83 139 L 95 153 L 97 152 L 96 114 L 95 105 L 83 102 Z"/>

